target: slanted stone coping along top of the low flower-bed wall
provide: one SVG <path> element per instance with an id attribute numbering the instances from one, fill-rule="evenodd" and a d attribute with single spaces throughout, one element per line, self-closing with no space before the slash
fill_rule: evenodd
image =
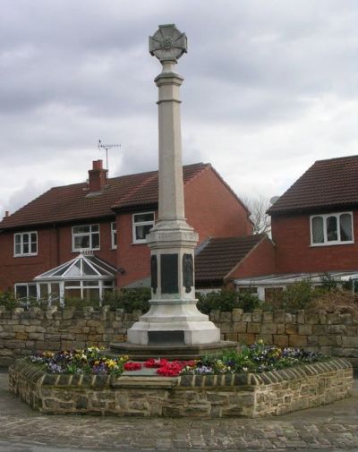
<path id="1" fill-rule="evenodd" d="M 91 387 L 91 388 L 225 388 L 255 387 L 281 383 L 285 380 L 300 380 L 314 375 L 324 375 L 339 370 L 353 369 L 351 362 L 344 358 L 324 362 L 300 364 L 278 371 L 261 373 L 226 373 L 223 375 L 181 375 L 179 377 L 158 377 L 124 375 L 55 374 L 47 373 L 27 358 L 18 360 L 11 370 L 19 372 L 36 386 L 51 387 Z"/>

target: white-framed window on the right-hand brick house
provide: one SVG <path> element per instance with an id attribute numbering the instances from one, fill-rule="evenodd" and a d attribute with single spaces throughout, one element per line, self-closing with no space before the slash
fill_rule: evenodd
<path id="1" fill-rule="evenodd" d="M 352 212 L 311 217 L 311 244 L 334 245 L 353 243 Z"/>

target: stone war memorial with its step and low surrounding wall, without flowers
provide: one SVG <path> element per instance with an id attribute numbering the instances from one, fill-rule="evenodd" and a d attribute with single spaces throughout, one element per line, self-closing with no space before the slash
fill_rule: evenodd
<path id="1" fill-rule="evenodd" d="M 113 342 L 110 356 L 196 359 L 234 350 L 196 307 L 194 250 L 198 235 L 185 220 L 180 86 L 175 72 L 187 38 L 175 25 L 160 25 L 149 52 L 162 65 L 158 86 L 158 222 L 147 242 L 151 252 L 149 312 Z M 158 376 L 153 369 L 119 376 L 47 373 L 28 359 L 9 369 L 10 388 L 41 413 L 118 416 L 260 417 L 325 405 L 350 394 L 353 371 L 344 358 L 277 371 Z"/>

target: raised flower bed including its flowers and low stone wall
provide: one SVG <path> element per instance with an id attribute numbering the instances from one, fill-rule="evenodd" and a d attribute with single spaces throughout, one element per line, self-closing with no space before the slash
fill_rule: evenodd
<path id="1" fill-rule="evenodd" d="M 139 368 L 156 370 L 143 375 Z M 41 413 L 259 417 L 348 397 L 350 362 L 262 342 L 191 362 L 107 358 L 100 350 L 40 354 L 9 368 L 10 390 Z"/>

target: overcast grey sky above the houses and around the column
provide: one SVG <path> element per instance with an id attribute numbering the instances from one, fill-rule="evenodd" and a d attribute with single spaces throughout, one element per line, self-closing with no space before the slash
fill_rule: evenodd
<path id="1" fill-rule="evenodd" d="M 356 0 L 2 0 L 0 217 L 54 185 L 158 167 L 158 60 L 175 23 L 183 164 L 240 197 L 282 194 L 318 159 L 358 151 Z"/>

